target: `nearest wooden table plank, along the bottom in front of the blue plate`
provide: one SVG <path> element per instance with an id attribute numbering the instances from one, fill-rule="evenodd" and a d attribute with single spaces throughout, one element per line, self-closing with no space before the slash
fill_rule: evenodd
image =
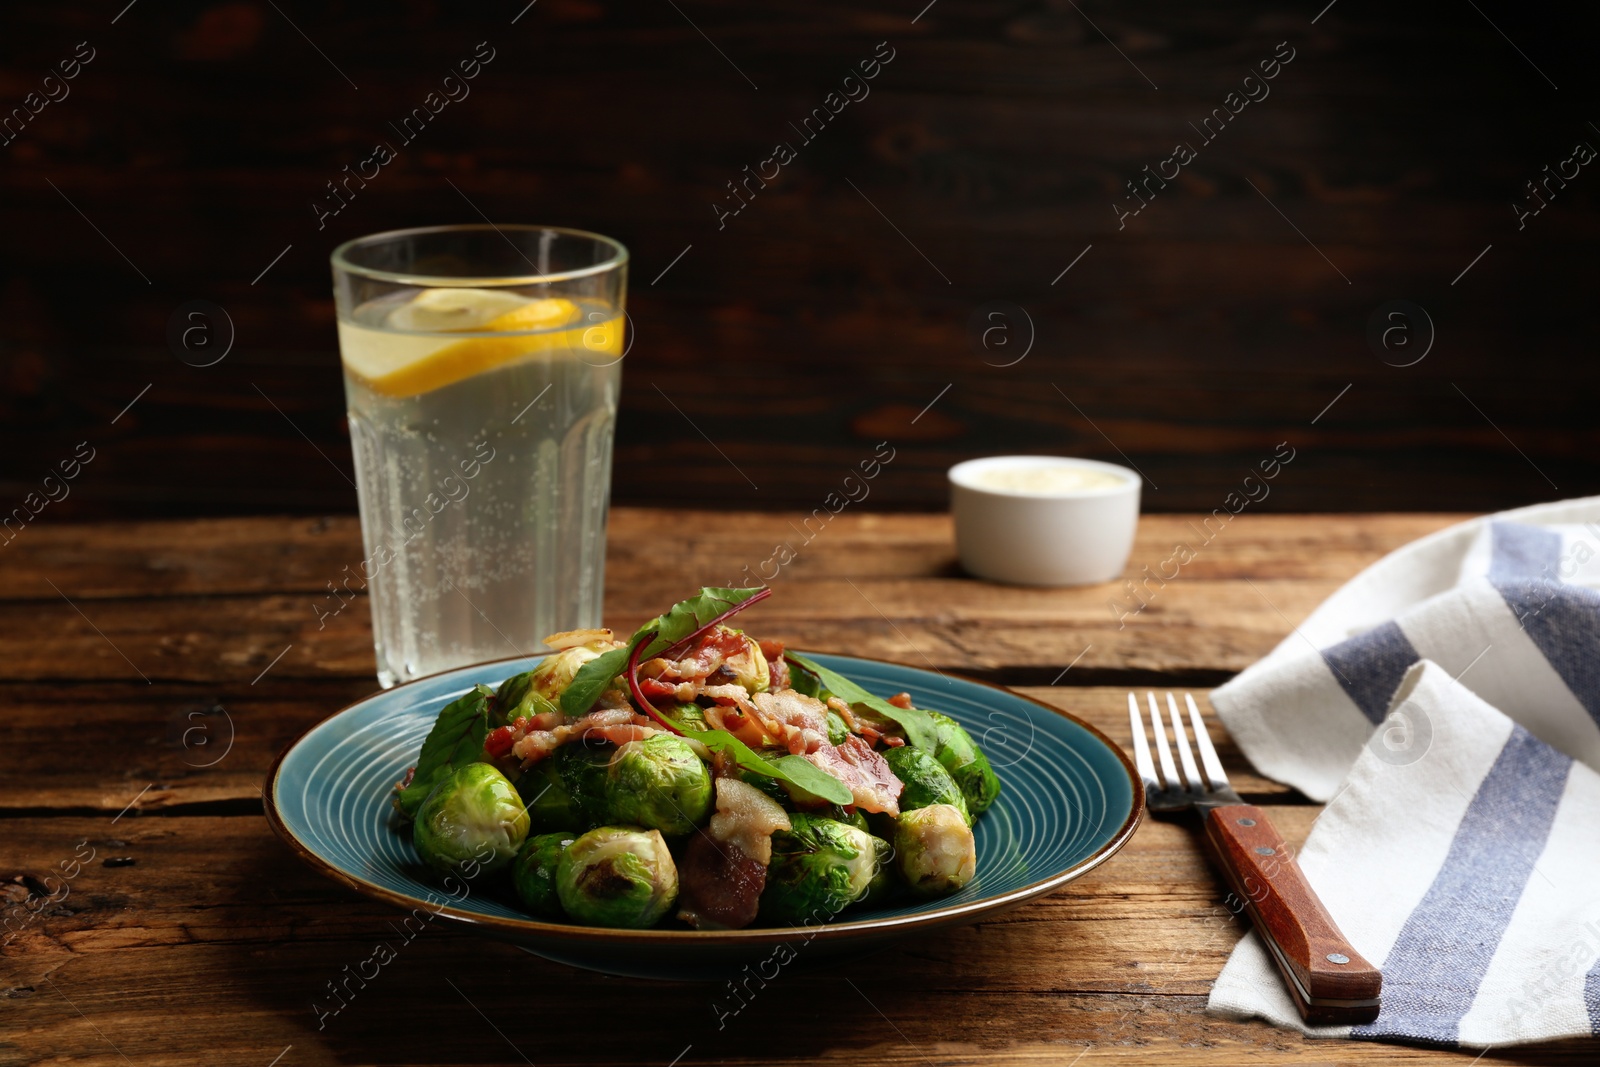
<path id="1" fill-rule="evenodd" d="M 1312 816 L 1272 809 L 1294 841 Z M 1093 1062 L 1194 1065 L 1445 1056 L 1310 1043 L 1202 1014 L 1240 928 L 1194 832 L 1168 822 L 1147 824 L 1110 864 L 994 921 L 859 961 L 800 960 L 738 1013 L 725 987 L 606 979 L 443 926 L 403 942 L 392 910 L 302 869 L 259 817 L 130 814 L 115 827 L 104 817 L 11 819 L 8 873 L 42 877 L 80 841 L 96 853 L 67 897 L 0 947 L 0 1062 L 48 1053 L 264 1065 L 286 1046 L 296 1064 L 1062 1064 L 1085 1048 Z M 14 913 L 22 889 L 5 886 Z M 352 985 L 344 1009 L 318 1014 L 314 1003 L 336 1006 L 326 982 L 379 941 L 400 942 L 397 960 L 365 989 Z M 637 1011 L 648 1025 L 603 1017 L 598 1005 Z M 800 1017 L 810 1025 L 795 1025 Z M 1512 1056 L 1587 1064 L 1597 1053 L 1597 1041 L 1573 1041 Z"/>

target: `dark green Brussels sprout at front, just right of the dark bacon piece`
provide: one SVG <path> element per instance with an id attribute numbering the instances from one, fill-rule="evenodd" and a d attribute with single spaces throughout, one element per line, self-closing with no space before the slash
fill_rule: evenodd
<path id="1" fill-rule="evenodd" d="M 835 819 L 790 814 L 773 833 L 762 917 L 779 923 L 827 921 L 866 896 L 878 873 L 872 835 Z"/>

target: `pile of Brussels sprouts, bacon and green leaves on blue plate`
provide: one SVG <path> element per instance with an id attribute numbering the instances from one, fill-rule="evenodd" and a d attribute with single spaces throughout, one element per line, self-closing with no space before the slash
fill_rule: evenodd
<path id="1" fill-rule="evenodd" d="M 533 917 L 824 923 L 965 886 L 1000 781 L 952 718 L 726 625 L 702 589 L 627 641 L 557 649 L 448 704 L 394 803 L 421 861 Z M 499 883 L 496 886 L 496 883 Z"/>

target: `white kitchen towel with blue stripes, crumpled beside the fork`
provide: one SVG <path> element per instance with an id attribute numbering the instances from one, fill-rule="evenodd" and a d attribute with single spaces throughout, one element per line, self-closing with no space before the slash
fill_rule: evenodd
<path id="1" fill-rule="evenodd" d="M 1384 971 L 1376 1022 L 1307 1029 L 1248 934 L 1211 1011 L 1472 1048 L 1600 1035 L 1600 498 L 1390 553 L 1211 701 L 1262 773 L 1331 797 L 1299 861 Z"/>

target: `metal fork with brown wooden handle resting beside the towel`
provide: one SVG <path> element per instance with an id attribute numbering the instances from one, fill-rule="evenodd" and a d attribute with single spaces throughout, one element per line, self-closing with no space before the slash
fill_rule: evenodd
<path id="1" fill-rule="evenodd" d="M 1150 811 L 1194 808 L 1200 813 L 1222 875 L 1272 950 L 1290 997 L 1306 1022 L 1354 1024 L 1376 1019 L 1382 974 L 1339 933 L 1294 862 L 1293 849 L 1267 821 L 1267 813 L 1246 805 L 1229 785 L 1194 696 L 1186 693 L 1184 702 L 1200 749 L 1198 765 L 1189 747 L 1184 718 L 1178 712 L 1178 699 L 1166 694 L 1173 739 L 1178 742 L 1174 763 L 1155 693 L 1147 693 L 1146 697 L 1160 774 L 1157 761 L 1150 758 L 1139 699 L 1133 693 L 1128 694 L 1128 725 L 1133 731 L 1133 761 L 1144 779 Z"/>

